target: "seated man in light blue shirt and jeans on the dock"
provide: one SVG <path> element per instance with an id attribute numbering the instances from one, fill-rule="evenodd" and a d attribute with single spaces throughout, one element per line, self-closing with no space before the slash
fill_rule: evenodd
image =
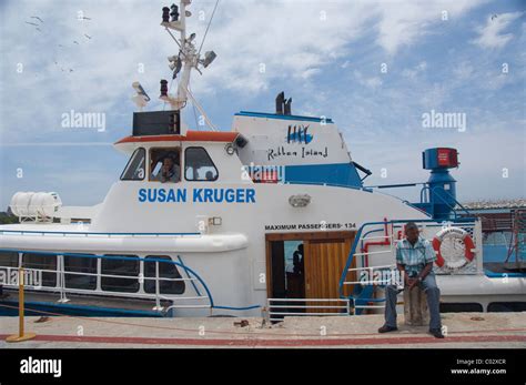
<path id="1" fill-rule="evenodd" d="M 404 285 L 412 290 L 419 286 L 427 295 L 429 308 L 429 333 L 436 338 L 444 338 L 441 323 L 441 291 L 436 286 L 433 262 L 435 251 L 429 241 L 419 236 L 418 226 L 414 222 L 405 225 L 405 239 L 396 244 L 396 267 L 404 277 Z M 396 285 L 385 287 L 385 324 L 378 333 L 396 331 Z"/>

